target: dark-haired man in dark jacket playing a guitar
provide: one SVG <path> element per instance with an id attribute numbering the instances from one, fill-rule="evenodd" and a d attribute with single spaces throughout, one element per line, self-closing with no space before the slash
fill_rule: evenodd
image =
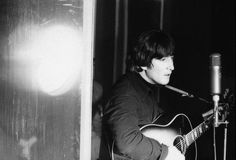
<path id="1" fill-rule="evenodd" d="M 110 155 L 106 156 L 102 148 L 101 160 L 185 159 L 176 147 L 146 137 L 140 130 L 164 111 L 158 102 L 158 89 L 169 83 L 174 70 L 173 51 L 174 41 L 163 31 L 140 35 L 131 58 L 131 72 L 114 85 L 104 107 L 102 141 Z"/>

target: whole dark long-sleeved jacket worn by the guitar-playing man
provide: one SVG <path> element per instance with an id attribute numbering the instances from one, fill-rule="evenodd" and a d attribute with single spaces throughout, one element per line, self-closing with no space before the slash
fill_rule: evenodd
<path id="1" fill-rule="evenodd" d="M 153 123 L 163 112 L 158 93 L 159 86 L 147 83 L 135 72 L 124 75 L 114 85 L 103 111 L 101 160 L 110 159 L 112 151 L 120 160 L 157 160 L 166 154 L 166 146 L 140 131 L 140 126 Z"/>

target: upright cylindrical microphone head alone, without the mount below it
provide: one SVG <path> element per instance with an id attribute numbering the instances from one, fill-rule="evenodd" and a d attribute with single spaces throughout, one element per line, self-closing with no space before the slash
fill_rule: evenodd
<path id="1" fill-rule="evenodd" d="M 211 95 L 221 94 L 221 55 L 210 55 Z"/>

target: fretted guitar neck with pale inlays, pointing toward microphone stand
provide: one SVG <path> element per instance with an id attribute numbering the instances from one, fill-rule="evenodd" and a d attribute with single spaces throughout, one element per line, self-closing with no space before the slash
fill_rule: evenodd
<path id="1" fill-rule="evenodd" d="M 210 128 L 210 122 L 212 117 L 209 120 L 204 121 L 195 127 L 192 131 L 185 135 L 186 146 L 189 147 L 193 142 L 195 142 L 203 133 L 205 133 Z"/>

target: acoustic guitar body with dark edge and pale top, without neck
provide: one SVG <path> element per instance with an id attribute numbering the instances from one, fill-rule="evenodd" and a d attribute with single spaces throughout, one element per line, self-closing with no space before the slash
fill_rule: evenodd
<path id="1" fill-rule="evenodd" d="M 186 145 L 185 134 L 189 133 L 192 128 L 188 117 L 184 114 L 162 115 L 155 123 L 144 125 L 140 130 L 145 136 L 161 144 L 177 147 L 186 156 L 186 160 L 193 159 L 191 157 L 196 154 L 195 149 L 192 149 L 195 146 L 188 148 L 189 146 Z"/>

